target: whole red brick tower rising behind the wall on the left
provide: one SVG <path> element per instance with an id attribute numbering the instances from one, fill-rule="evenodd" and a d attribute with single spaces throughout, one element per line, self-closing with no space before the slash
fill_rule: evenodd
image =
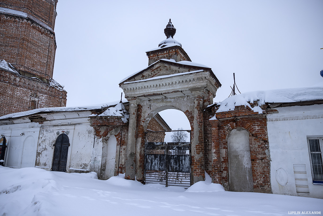
<path id="1" fill-rule="evenodd" d="M 57 0 L 0 2 L 0 116 L 66 106 L 53 80 Z"/>

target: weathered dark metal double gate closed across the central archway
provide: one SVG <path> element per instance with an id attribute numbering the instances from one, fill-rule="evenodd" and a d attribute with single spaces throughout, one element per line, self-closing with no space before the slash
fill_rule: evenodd
<path id="1" fill-rule="evenodd" d="M 149 131 L 171 132 L 171 131 Z M 191 132 L 191 131 L 188 131 Z M 147 132 L 148 133 L 148 132 Z M 190 142 L 146 142 L 145 181 L 168 186 L 191 186 Z"/>

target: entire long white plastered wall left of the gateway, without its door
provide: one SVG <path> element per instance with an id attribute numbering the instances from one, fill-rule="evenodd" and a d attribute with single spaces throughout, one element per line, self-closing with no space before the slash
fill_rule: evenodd
<path id="1" fill-rule="evenodd" d="M 35 122 L 1 125 L 0 134 L 7 140 L 5 166 L 38 167 L 51 170 L 54 144 L 59 134 L 67 134 L 67 172 L 94 171 L 100 173 L 102 140 L 95 133 L 88 117 L 91 112 L 47 114 L 41 124 Z M 80 115 L 80 117 L 79 117 Z M 115 159 L 115 155 L 114 158 Z"/>

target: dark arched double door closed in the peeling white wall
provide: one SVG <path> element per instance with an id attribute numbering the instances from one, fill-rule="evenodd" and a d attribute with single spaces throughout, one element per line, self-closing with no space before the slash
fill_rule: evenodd
<path id="1" fill-rule="evenodd" d="M 59 135 L 54 148 L 52 171 L 66 172 L 68 146 L 68 136 L 64 133 Z"/>

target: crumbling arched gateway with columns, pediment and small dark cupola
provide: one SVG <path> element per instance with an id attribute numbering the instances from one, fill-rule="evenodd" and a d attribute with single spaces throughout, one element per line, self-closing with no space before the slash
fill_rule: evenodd
<path id="1" fill-rule="evenodd" d="M 167 39 L 146 52 L 149 66 L 119 84 L 130 103 L 125 177 L 144 178 L 147 125 L 159 111 L 173 108 L 183 111 L 191 124 L 191 179 L 195 183 L 205 179 L 203 110 L 213 104 L 221 84 L 211 68 L 191 62 L 182 45 L 173 39 L 176 29 L 171 20 L 164 32 Z"/>

